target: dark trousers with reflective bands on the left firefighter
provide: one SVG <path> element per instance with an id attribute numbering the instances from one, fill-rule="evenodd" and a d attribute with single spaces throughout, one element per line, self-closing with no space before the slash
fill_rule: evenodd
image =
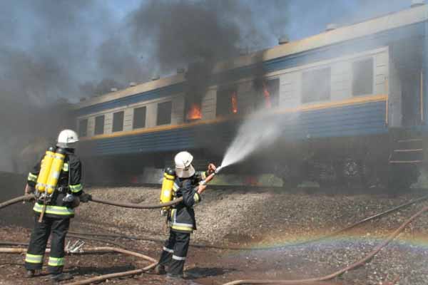
<path id="1" fill-rule="evenodd" d="M 39 217 L 35 217 L 34 229 L 31 233 L 29 249 L 25 257 L 25 268 L 27 270 L 41 269 L 46 244 L 52 232 L 48 271 L 51 274 L 60 274 L 64 266 L 64 246 L 68 227 L 70 226 L 70 218 L 45 216 L 42 222 L 38 222 L 38 220 Z"/>

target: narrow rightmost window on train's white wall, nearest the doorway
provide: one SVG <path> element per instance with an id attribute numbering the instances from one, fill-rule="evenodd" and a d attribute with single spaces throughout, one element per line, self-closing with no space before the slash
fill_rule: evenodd
<path id="1" fill-rule="evenodd" d="M 352 63 L 352 95 L 373 93 L 373 58 Z"/>

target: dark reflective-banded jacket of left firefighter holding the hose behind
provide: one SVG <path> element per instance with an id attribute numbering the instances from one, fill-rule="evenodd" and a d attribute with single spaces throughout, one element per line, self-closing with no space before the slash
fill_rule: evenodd
<path id="1" fill-rule="evenodd" d="M 29 173 L 27 183 L 31 187 L 36 186 L 37 177 L 40 172 L 41 160 L 34 166 Z M 74 209 L 67 202 L 63 202 L 63 197 L 70 192 L 73 195 L 80 196 L 83 187 L 81 185 L 81 161 L 74 154 L 73 149 L 66 149 L 63 168 L 59 175 L 58 185 L 52 195 L 51 201 L 46 205 L 46 217 L 66 218 L 74 217 Z M 43 200 L 38 200 L 34 204 L 34 212 L 39 215 L 43 209 Z"/>

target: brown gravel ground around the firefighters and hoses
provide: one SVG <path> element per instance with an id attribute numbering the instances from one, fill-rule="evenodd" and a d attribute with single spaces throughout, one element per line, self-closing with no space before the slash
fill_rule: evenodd
<path id="1" fill-rule="evenodd" d="M 159 195 L 158 188 L 151 187 L 104 187 L 92 188 L 88 192 L 100 199 L 142 204 L 157 203 Z M 196 280 L 198 284 L 207 285 L 243 278 L 301 279 L 327 275 L 364 257 L 387 234 L 418 209 L 427 206 L 428 202 L 367 222 L 340 237 L 308 244 L 289 244 L 322 236 L 421 195 L 424 192 L 414 191 L 389 197 L 380 194 L 326 195 L 321 192 L 309 195 L 302 191 L 290 193 L 272 189 L 207 190 L 203 201 L 195 207 L 198 230 L 193 234 L 193 241 L 252 249 L 235 251 L 193 247 L 186 268 L 190 273 L 200 274 Z M 158 210 L 123 209 L 91 202 L 82 204 L 76 216 L 72 223 L 74 230 L 161 238 L 168 234 L 165 218 Z M 13 232 L 14 228 L 6 233 L 2 228 L 0 235 L 11 240 L 9 237 L 13 237 Z M 14 240 L 28 240 L 28 230 L 19 232 L 21 235 Z M 150 242 L 129 241 L 126 245 L 155 258 L 161 248 L 161 244 Z M 260 247 L 265 249 L 259 250 Z M 10 256 L 0 254 L 0 276 L 9 269 L 8 258 L 10 260 Z M 93 276 L 109 272 L 109 268 L 118 271 L 138 266 L 133 259 L 115 258 L 114 255 L 106 255 L 91 259 L 86 264 L 73 257 L 68 269 Z M 387 284 L 385 279 L 391 281 L 399 276 L 400 285 L 428 284 L 427 261 L 428 220 L 427 214 L 424 214 L 365 266 L 349 271 L 333 282 Z M 21 266 L 20 262 L 21 259 L 16 259 L 14 266 Z M 83 269 L 79 269 L 82 266 Z M 96 270 L 97 267 L 101 269 Z M 171 284 L 163 277 L 147 274 L 115 282 Z"/>

